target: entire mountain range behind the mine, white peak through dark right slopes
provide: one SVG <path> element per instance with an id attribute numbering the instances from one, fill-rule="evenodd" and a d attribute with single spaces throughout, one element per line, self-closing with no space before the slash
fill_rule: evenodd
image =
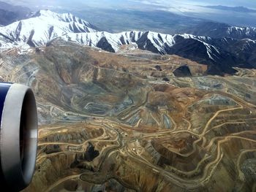
<path id="1" fill-rule="evenodd" d="M 209 74 L 232 74 L 233 66 L 252 68 L 255 65 L 256 42 L 195 36 L 192 34 L 160 34 L 151 31 L 126 31 L 110 34 L 71 14 L 49 10 L 35 13 L 32 18 L 0 27 L 0 48 L 49 45 L 53 39 L 77 42 L 117 52 L 121 45 L 134 44 L 142 50 L 159 54 L 176 54 L 201 64 L 208 64 Z M 239 45 L 241 49 L 236 49 Z M 244 48 L 243 48 L 244 47 Z"/>

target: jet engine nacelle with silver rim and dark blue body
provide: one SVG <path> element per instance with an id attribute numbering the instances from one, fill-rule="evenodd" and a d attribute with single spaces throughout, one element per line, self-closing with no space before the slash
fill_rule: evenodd
<path id="1" fill-rule="evenodd" d="M 31 183 L 37 156 L 37 107 L 25 85 L 0 82 L 1 187 L 20 191 Z"/>

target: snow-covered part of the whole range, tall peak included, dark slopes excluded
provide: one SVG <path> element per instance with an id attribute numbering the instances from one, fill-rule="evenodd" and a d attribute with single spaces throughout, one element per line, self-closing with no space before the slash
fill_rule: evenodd
<path id="1" fill-rule="evenodd" d="M 41 10 L 29 19 L 0 28 L 1 48 L 23 44 L 37 47 L 46 45 L 59 37 L 110 52 L 117 52 L 121 45 L 135 43 L 140 49 L 167 54 L 170 47 L 173 47 L 176 41 L 179 42 L 181 39 L 196 39 L 202 42 L 206 46 L 208 57 L 212 60 L 214 60 L 214 55 L 211 50 L 217 50 L 216 47 L 204 42 L 209 39 L 208 37 L 196 37 L 191 34 L 159 34 L 152 31 L 125 31 L 110 34 L 105 31 L 97 31 L 97 28 L 89 22 L 70 13 L 59 14 L 50 10 Z"/>

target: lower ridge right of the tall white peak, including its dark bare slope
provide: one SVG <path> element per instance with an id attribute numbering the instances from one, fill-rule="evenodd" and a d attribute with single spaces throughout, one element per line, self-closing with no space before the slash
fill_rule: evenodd
<path id="1" fill-rule="evenodd" d="M 241 59 L 236 56 L 236 51 L 232 48 L 234 43 L 240 42 L 236 39 L 229 44 L 228 42 L 219 43 L 225 39 L 197 37 L 190 34 L 168 35 L 151 31 L 127 31 L 119 34 L 107 32 L 66 34 L 61 38 L 110 52 L 117 52 L 121 45 L 136 44 L 142 50 L 150 50 L 159 54 L 175 54 L 200 64 L 208 64 L 208 74 L 233 74 L 236 72 L 233 66 L 252 68 L 247 57 Z"/>

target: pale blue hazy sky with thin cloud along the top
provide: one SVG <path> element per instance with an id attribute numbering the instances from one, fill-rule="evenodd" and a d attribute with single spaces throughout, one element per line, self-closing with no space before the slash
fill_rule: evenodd
<path id="1" fill-rule="evenodd" d="M 256 0 L 10 0 L 7 1 L 7 3 L 23 5 L 34 11 L 39 9 L 51 9 L 56 12 L 72 12 L 75 15 L 82 12 L 83 14 L 79 16 L 85 20 L 91 15 L 93 15 L 93 17 L 103 17 L 102 15 L 94 14 L 94 12 L 98 12 L 99 9 L 102 10 L 101 13 L 103 14 L 110 10 L 109 15 L 107 15 L 109 18 L 111 18 L 111 15 L 113 16 L 112 9 L 113 11 L 120 11 L 120 14 L 122 10 L 142 12 L 157 10 L 173 12 L 190 18 L 214 20 L 236 26 L 256 26 L 256 13 L 202 7 L 208 5 L 222 5 L 256 9 Z M 121 15 L 116 15 L 116 17 L 121 18 Z M 127 17 L 129 17 L 129 15 L 127 15 Z"/>

